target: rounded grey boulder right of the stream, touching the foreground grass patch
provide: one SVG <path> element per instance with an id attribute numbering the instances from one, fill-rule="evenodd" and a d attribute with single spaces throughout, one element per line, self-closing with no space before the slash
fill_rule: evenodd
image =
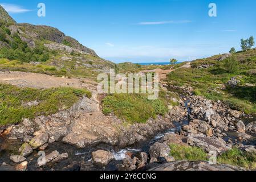
<path id="1" fill-rule="evenodd" d="M 156 142 L 149 148 L 149 154 L 151 158 L 165 158 L 170 153 L 170 148 L 165 143 Z"/>

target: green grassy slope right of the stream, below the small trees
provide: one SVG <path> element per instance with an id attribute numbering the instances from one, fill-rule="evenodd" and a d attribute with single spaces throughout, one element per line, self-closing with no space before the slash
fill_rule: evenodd
<path id="1" fill-rule="evenodd" d="M 221 100 L 232 109 L 256 114 L 256 49 L 233 53 L 223 61 L 222 55 L 192 62 L 192 68 L 176 69 L 169 73 L 168 81 L 172 85 L 192 86 L 194 94 L 210 100 Z M 208 65 L 207 67 L 201 67 Z M 231 87 L 227 82 L 235 77 L 239 84 Z"/>

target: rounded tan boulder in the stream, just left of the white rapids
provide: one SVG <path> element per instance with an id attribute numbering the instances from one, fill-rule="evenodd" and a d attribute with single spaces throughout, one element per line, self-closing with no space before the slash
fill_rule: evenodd
<path id="1" fill-rule="evenodd" d="M 97 150 L 92 152 L 92 160 L 99 166 L 107 166 L 114 157 L 111 152 L 104 151 L 104 150 Z"/>

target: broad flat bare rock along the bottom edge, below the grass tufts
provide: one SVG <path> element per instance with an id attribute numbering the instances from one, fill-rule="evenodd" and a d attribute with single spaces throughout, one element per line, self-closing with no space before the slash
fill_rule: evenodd
<path id="1" fill-rule="evenodd" d="M 177 161 L 165 164 L 149 164 L 145 167 L 149 171 L 245 171 L 243 168 L 225 164 L 211 165 L 208 162 Z"/>

